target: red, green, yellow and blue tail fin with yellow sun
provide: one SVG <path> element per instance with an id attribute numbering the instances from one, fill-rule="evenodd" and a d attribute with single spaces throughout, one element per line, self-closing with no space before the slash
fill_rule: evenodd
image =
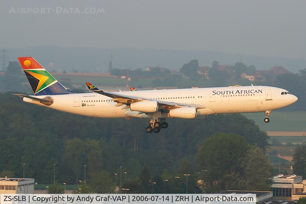
<path id="1" fill-rule="evenodd" d="M 64 87 L 33 57 L 18 57 L 34 95 L 60 95 L 74 92 Z"/>

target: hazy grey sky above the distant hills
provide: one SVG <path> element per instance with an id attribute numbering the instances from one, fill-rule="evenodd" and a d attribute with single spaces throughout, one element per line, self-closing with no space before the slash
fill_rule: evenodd
<path id="1" fill-rule="evenodd" d="M 12 7 L 105 13 L 17 14 Z M 305 8 L 305 0 L 1 1 L 0 48 L 135 47 L 306 58 Z"/>

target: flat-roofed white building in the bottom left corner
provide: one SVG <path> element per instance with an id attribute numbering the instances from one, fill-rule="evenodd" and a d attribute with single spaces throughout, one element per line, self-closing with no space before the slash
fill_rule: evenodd
<path id="1" fill-rule="evenodd" d="M 0 178 L 1 194 L 32 194 L 34 179 Z"/>

